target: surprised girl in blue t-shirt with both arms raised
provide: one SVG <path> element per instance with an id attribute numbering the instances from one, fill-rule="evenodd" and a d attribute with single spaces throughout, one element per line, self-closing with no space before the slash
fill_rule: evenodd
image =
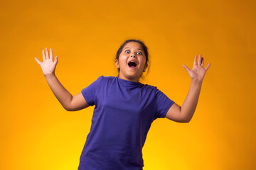
<path id="1" fill-rule="evenodd" d="M 197 56 L 193 69 L 183 67 L 191 77 L 191 86 L 181 106 L 171 101 L 156 86 L 141 84 L 149 57 L 147 47 L 140 40 L 126 40 L 117 51 L 114 63 L 117 77 L 98 77 L 79 94 L 72 96 L 55 76 L 57 56 L 53 62 L 46 48 L 41 66 L 43 75 L 58 101 L 67 111 L 94 106 L 92 126 L 80 156 L 78 170 L 141 170 L 144 166 L 142 147 L 151 123 L 156 118 L 168 118 L 188 123 L 196 110 L 203 77 L 203 57 Z"/>

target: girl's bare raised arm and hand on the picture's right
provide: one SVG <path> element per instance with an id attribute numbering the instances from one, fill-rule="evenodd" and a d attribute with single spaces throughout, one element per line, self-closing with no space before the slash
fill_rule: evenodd
<path id="1" fill-rule="evenodd" d="M 203 78 L 206 74 L 206 71 L 210 67 L 209 63 L 204 69 L 203 62 L 204 60 L 202 55 L 199 55 L 198 62 L 197 56 L 195 57 L 193 62 L 193 69 L 188 69 L 186 65 L 183 65 L 191 77 L 191 86 L 189 88 L 188 95 L 183 101 L 182 106 L 178 106 L 176 103 L 174 103 L 174 105 L 171 106 L 169 111 L 166 113 L 166 118 L 181 123 L 188 123 L 193 117 L 193 113 L 196 111 L 201 86 L 203 84 Z"/>

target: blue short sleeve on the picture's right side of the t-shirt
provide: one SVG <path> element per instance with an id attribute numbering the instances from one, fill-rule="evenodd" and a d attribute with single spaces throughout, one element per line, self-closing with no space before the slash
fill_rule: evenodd
<path id="1" fill-rule="evenodd" d="M 169 97 L 156 88 L 156 118 L 165 118 L 169 108 L 174 104 Z"/>

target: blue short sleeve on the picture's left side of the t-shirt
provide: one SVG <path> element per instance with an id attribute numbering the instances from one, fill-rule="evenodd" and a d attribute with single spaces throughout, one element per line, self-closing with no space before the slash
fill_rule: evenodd
<path id="1" fill-rule="evenodd" d="M 95 105 L 95 98 L 96 98 L 96 92 L 98 85 L 100 84 L 100 80 L 103 76 L 97 78 L 95 81 L 92 82 L 89 86 L 85 87 L 85 89 L 82 89 L 81 93 L 82 96 L 85 98 L 85 101 L 90 105 Z"/>

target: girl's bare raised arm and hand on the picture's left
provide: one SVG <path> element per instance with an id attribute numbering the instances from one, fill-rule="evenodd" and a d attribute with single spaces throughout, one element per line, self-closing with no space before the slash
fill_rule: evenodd
<path id="1" fill-rule="evenodd" d="M 43 71 L 43 75 L 46 78 L 50 89 L 53 91 L 53 94 L 61 103 L 63 108 L 67 111 L 79 111 L 83 108 L 87 108 L 90 106 L 85 98 L 82 96 L 81 92 L 72 96 L 70 92 L 65 89 L 65 87 L 58 81 L 55 76 L 55 67 L 58 62 L 58 57 L 55 57 L 55 61 L 53 62 L 53 51 L 50 49 L 50 56 L 48 55 L 48 50 L 46 48 L 46 55 L 43 51 L 43 62 L 40 62 L 37 58 L 35 58 L 36 62 L 41 66 Z"/>

